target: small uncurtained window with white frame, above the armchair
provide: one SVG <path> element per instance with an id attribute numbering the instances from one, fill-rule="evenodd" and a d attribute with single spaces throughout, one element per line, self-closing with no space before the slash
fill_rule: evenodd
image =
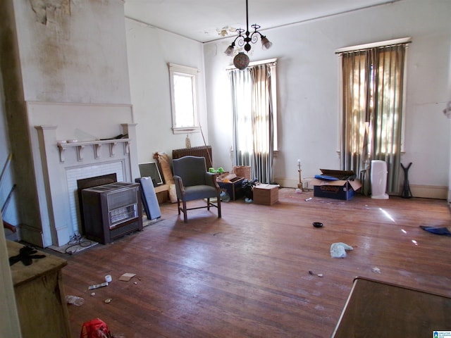
<path id="1" fill-rule="evenodd" d="M 199 130 L 197 120 L 196 68 L 168 63 L 171 82 L 172 129 L 174 134 Z"/>

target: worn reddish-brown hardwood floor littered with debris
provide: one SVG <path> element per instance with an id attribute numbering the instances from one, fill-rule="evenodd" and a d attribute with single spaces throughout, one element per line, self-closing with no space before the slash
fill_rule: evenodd
<path id="1" fill-rule="evenodd" d="M 419 228 L 450 226 L 446 201 L 309 197 L 280 189 L 273 206 L 231 201 L 186 224 L 164 204 L 142 232 L 65 256 L 66 294 L 85 298 L 68 306 L 73 337 L 94 318 L 127 338 L 330 337 L 358 275 L 451 296 L 451 237 Z M 331 258 L 335 242 L 354 250 Z"/>

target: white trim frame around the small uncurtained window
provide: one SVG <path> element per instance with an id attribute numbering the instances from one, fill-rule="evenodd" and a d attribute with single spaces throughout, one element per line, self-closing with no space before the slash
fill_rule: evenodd
<path id="1" fill-rule="evenodd" d="M 171 86 L 171 113 L 172 113 L 172 130 L 173 134 L 187 134 L 192 132 L 199 132 L 199 99 L 197 93 L 197 76 L 199 70 L 197 68 L 189 67 L 187 65 L 178 65 L 175 63 L 168 63 L 169 69 L 169 83 Z M 177 127 L 177 111 L 175 110 L 175 88 L 174 75 L 184 75 L 192 79 L 192 103 L 193 103 L 193 117 L 194 125 L 187 127 Z"/>

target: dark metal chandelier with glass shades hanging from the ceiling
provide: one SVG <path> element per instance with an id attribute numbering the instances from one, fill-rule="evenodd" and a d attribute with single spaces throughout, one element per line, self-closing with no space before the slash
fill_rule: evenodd
<path id="1" fill-rule="evenodd" d="M 228 56 L 232 56 L 233 50 L 235 48 L 235 44 L 238 46 L 245 46 L 245 51 L 251 50 L 251 43 L 254 44 L 258 41 L 259 37 L 261 39 L 261 47 L 263 49 L 269 49 L 273 45 L 272 42 L 268 40 L 268 38 L 264 35 L 262 35 L 258 29 L 260 28 L 259 25 L 254 24 L 251 25 L 254 32 L 249 32 L 249 12 L 247 10 L 247 0 L 246 0 L 246 30 L 243 30 L 242 28 L 238 28 L 236 31 L 238 33 L 238 36 L 235 37 L 235 40 L 233 40 L 232 44 L 227 47 L 225 53 Z M 243 34 L 244 33 L 244 34 Z M 245 69 L 247 65 L 249 65 L 249 56 L 247 56 L 244 52 L 238 53 L 235 58 L 233 58 L 233 64 L 238 69 Z"/>

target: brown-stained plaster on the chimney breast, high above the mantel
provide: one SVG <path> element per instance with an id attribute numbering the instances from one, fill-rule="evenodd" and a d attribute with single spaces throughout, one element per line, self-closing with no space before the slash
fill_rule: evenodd
<path id="1" fill-rule="evenodd" d="M 45 25 L 30 2 L 14 1 L 25 101 L 130 104 L 123 1 L 70 1 Z"/>

